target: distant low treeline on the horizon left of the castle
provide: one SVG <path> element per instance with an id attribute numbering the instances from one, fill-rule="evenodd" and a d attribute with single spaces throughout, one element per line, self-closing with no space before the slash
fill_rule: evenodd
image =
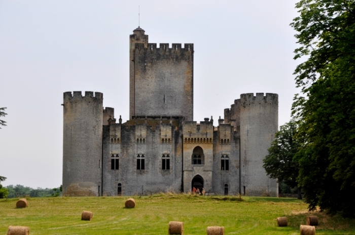
<path id="1" fill-rule="evenodd" d="M 61 196 L 61 186 L 55 187 L 54 189 L 42 189 L 38 187 L 37 189 L 32 189 L 31 187 L 25 187 L 23 185 L 17 184 L 6 186 L 8 189 L 8 198 L 24 198 L 24 197 L 58 197 Z"/>

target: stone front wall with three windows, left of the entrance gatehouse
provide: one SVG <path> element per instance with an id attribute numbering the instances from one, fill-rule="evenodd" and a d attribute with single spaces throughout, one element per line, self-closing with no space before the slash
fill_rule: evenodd
<path id="1" fill-rule="evenodd" d="M 182 118 L 131 120 L 110 125 L 104 133 L 103 195 L 149 194 L 182 189 Z M 110 136 L 110 137 L 109 137 Z M 164 138 L 162 138 L 162 136 Z M 168 139 L 165 142 L 166 139 Z M 115 142 L 116 137 L 116 142 Z M 119 140 L 117 140 L 119 139 Z M 164 139 L 164 140 L 163 140 Z M 111 159 L 119 155 L 119 169 Z M 144 154 L 145 169 L 137 169 L 137 155 Z M 162 155 L 169 154 L 170 169 L 162 169 Z"/>

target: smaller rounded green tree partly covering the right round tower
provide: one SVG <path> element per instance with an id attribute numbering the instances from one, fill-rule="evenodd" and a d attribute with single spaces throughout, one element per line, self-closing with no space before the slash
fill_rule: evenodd
<path id="1" fill-rule="evenodd" d="M 268 149 L 269 154 L 263 160 L 267 175 L 290 187 L 298 186 L 296 179 L 299 167 L 298 162 L 293 160 L 300 146 L 294 138 L 297 128 L 295 120 L 280 126 L 280 130 L 275 133 L 275 140 Z M 302 199 L 300 187 L 298 199 Z"/>

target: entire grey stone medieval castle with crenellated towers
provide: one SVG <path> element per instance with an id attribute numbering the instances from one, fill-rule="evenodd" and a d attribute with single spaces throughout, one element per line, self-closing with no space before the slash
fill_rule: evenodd
<path id="1" fill-rule="evenodd" d="M 278 95 L 246 93 L 218 126 L 193 121 L 194 44 L 129 37 L 129 120 L 116 123 L 100 92 L 64 92 L 63 195 L 156 192 L 278 196 L 263 158 L 278 129 Z"/>

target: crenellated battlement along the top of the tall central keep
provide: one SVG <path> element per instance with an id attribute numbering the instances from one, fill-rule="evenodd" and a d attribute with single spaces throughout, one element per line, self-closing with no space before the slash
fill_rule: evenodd
<path id="1" fill-rule="evenodd" d="M 135 49 L 139 52 L 145 51 L 152 54 L 192 54 L 194 53 L 194 43 L 185 43 L 184 48 L 181 43 L 172 43 L 171 48 L 169 48 L 169 43 L 159 43 L 159 48 L 157 48 L 157 43 L 148 43 L 147 48 L 145 43 L 135 43 Z"/>

